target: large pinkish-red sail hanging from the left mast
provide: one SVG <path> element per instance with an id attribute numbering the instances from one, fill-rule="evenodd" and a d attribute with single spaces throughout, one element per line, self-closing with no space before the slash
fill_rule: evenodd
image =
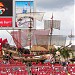
<path id="1" fill-rule="evenodd" d="M 49 30 L 32 29 L 31 32 L 29 30 L 21 30 L 21 36 L 19 35 L 19 31 L 13 31 L 11 35 L 17 47 L 19 45 L 25 47 L 30 45 L 30 39 L 31 45 L 36 45 L 36 35 L 49 35 Z M 19 37 L 21 37 L 21 39 L 19 39 Z"/>

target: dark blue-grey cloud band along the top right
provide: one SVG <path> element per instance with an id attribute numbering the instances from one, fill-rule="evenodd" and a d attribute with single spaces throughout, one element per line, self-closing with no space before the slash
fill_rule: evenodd
<path id="1" fill-rule="evenodd" d="M 36 2 L 39 8 L 49 10 L 61 9 L 68 5 L 74 5 L 74 0 L 37 0 Z"/>

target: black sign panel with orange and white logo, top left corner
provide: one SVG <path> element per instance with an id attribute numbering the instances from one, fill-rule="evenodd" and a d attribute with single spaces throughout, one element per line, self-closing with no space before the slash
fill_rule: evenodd
<path id="1" fill-rule="evenodd" d="M 13 0 L 0 0 L 0 16 L 13 15 Z"/>

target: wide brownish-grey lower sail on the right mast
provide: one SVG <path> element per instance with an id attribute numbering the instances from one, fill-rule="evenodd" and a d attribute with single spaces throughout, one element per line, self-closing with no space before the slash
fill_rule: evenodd
<path id="1" fill-rule="evenodd" d="M 51 41 L 50 41 L 51 40 Z M 65 46 L 66 36 L 63 35 L 37 35 L 36 44 L 37 45 L 56 45 L 56 46 Z"/>

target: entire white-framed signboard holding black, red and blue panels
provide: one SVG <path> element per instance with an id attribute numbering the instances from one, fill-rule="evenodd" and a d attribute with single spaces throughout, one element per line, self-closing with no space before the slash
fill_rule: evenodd
<path id="1" fill-rule="evenodd" d="M 34 11 L 32 0 L 0 0 L 0 29 L 27 29 L 30 26 L 30 18 L 24 16 L 17 18 L 18 14 L 25 14 Z M 35 21 L 31 21 L 35 29 Z"/>

